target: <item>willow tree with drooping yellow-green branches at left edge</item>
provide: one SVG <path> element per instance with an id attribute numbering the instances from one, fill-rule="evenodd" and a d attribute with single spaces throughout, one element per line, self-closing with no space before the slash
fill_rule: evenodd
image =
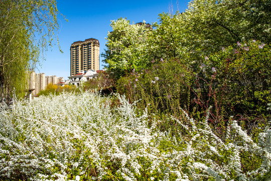
<path id="1" fill-rule="evenodd" d="M 58 44 L 56 0 L 0 2 L 0 99 L 9 103 L 13 90 L 26 89 L 27 71 L 48 46 Z M 56 41 L 57 40 L 57 41 Z"/>

